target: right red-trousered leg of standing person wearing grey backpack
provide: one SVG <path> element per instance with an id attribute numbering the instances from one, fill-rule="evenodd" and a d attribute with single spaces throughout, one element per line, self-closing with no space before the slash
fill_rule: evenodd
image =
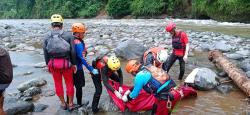
<path id="1" fill-rule="evenodd" d="M 62 70 L 64 81 L 66 84 L 66 93 L 69 98 L 69 109 L 73 109 L 74 85 L 73 85 L 73 69 Z"/>

